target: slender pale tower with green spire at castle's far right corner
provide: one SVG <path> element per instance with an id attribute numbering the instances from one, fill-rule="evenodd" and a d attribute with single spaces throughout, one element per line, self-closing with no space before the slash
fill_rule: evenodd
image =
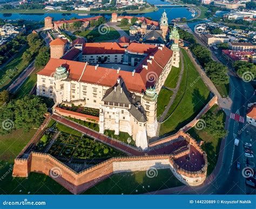
<path id="1" fill-rule="evenodd" d="M 169 38 L 172 42 L 171 50 L 173 51 L 172 66 L 179 67 L 179 32 L 176 25 L 173 26 Z"/>

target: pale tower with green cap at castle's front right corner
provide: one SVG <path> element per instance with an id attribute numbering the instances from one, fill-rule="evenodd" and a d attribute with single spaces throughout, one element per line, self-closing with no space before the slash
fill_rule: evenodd
<path id="1" fill-rule="evenodd" d="M 154 137 L 157 134 L 157 93 L 155 88 L 147 88 L 142 98 L 142 105 L 147 117 L 147 136 Z"/>

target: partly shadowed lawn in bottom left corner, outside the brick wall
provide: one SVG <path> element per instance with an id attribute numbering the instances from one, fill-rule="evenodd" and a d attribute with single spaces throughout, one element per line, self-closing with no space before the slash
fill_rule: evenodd
<path id="1" fill-rule="evenodd" d="M 36 129 L 29 133 L 19 129 L 0 136 L 0 176 L 4 177 L 0 183 L 0 194 L 69 194 L 50 177 L 39 173 L 30 173 L 29 178 L 12 177 L 14 159 L 35 133 Z"/>

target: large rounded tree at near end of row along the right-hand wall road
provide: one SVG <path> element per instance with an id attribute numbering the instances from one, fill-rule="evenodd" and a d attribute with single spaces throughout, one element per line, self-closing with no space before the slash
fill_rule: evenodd
<path id="1" fill-rule="evenodd" d="M 205 65 L 205 72 L 215 85 L 228 83 L 227 67 L 219 62 L 208 62 Z"/>

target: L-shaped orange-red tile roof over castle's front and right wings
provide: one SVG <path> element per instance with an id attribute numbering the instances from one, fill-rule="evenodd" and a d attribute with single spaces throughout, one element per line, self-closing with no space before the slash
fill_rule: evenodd
<path id="1" fill-rule="evenodd" d="M 112 43 L 105 44 L 112 45 Z M 88 49 L 86 45 L 85 48 L 90 51 L 90 47 Z M 139 45 L 141 47 L 139 47 Z M 136 50 L 140 50 L 140 48 L 143 48 L 143 52 L 149 52 L 149 55 L 145 58 L 143 63 L 135 69 L 136 71 L 133 76 L 132 72 L 129 71 L 121 70 L 119 71 L 119 73 L 117 73 L 117 70 L 112 68 L 97 67 L 97 69 L 95 69 L 95 66 L 91 66 L 88 64 L 85 67 L 85 62 L 70 61 L 64 59 L 50 59 L 44 69 L 42 69 L 42 71 L 38 72 L 37 74 L 53 76 L 55 69 L 59 66 L 63 66 L 68 69 L 69 78 L 72 80 L 78 81 L 80 79 L 81 82 L 96 83 L 97 85 L 112 87 L 116 84 L 117 79 L 119 77 L 122 77 L 124 79 L 126 87 L 131 92 L 143 92 L 146 90 L 146 88 L 154 86 L 161 72 L 163 71 L 163 68 L 171 59 L 173 52 L 167 47 L 162 47 L 160 49 L 158 47 L 147 44 L 139 45 L 136 47 L 131 47 L 132 50 L 136 52 Z M 94 48 L 95 47 L 92 47 L 92 50 L 94 50 Z M 108 52 L 110 52 L 110 50 Z M 153 56 L 153 59 L 151 61 L 152 63 L 147 62 L 147 59 L 150 59 L 150 55 Z M 145 66 L 143 65 L 147 65 L 147 67 L 145 68 Z M 83 72 L 84 67 L 85 71 Z M 151 79 L 151 77 L 153 77 L 153 79 Z"/>

